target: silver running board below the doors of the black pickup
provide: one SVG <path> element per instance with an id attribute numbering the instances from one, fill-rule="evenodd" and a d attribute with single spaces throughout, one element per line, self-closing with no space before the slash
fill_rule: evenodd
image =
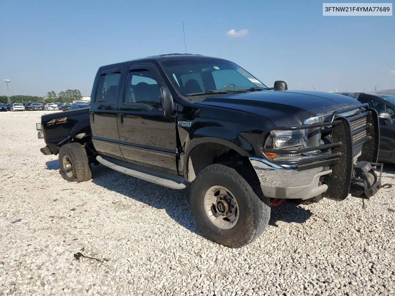
<path id="1" fill-rule="evenodd" d="M 121 163 L 117 164 L 118 161 L 116 160 L 111 159 L 111 161 L 109 161 L 105 158 L 103 158 L 102 156 L 97 156 L 96 160 L 102 165 L 109 167 L 110 169 L 116 170 L 118 172 L 135 178 L 139 178 L 141 180 L 145 180 L 172 189 L 184 189 L 186 187 L 186 181 L 181 176 L 174 176 L 171 174 L 166 174 L 164 172 L 158 172 L 156 170 L 140 167 L 138 165 L 132 165 L 130 163 L 122 162 L 121 165 Z M 127 167 L 124 165 L 127 165 Z"/>

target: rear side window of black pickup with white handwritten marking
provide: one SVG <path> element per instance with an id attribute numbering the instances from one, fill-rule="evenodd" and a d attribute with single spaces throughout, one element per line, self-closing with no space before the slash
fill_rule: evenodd
<path id="1" fill-rule="evenodd" d="M 109 72 L 101 75 L 95 97 L 96 103 L 114 103 L 118 101 L 116 96 L 120 76 L 120 72 Z"/>

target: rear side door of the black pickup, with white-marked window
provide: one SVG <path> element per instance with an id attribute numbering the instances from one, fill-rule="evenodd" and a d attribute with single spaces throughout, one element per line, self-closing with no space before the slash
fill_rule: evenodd
<path id="1" fill-rule="evenodd" d="M 117 107 L 121 68 L 105 69 L 100 75 L 96 96 L 90 105 L 92 143 L 99 154 L 124 160 L 119 147 Z"/>

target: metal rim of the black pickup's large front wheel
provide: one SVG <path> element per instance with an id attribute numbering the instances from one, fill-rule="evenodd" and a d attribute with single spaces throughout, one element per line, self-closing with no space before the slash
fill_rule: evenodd
<path id="1" fill-rule="evenodd" d="M 239 204 L 224 186 L 213 186 L 204 197 L 205 212 L 219 229 L 231 229 L 239 221 Z"/>

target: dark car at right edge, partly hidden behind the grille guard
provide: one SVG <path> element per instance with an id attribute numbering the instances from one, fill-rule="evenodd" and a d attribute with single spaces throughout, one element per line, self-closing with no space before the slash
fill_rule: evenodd
<path id="1" fill-rule="evenodd" d="M 361 103 L 368 103 L 378 112 L 380 121 L 379 161 L 395 164 L 395 96 L 391 94 L 342 92 Z"/>

